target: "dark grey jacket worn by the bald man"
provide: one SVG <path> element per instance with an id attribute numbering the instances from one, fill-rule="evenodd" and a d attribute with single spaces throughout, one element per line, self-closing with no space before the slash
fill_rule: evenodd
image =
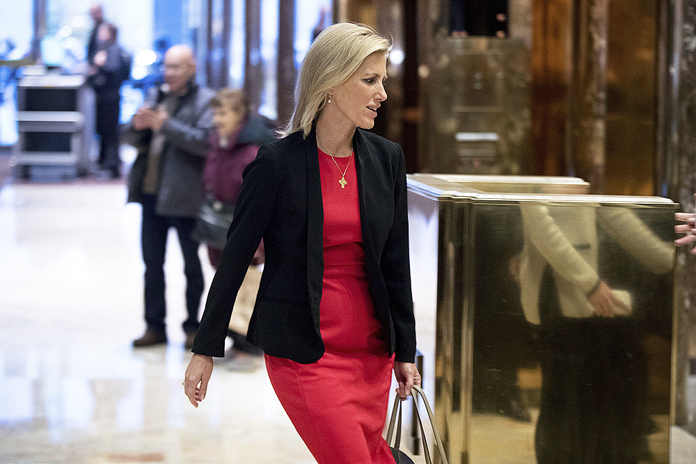
<path id="1" fill-rule="evenodd" d="M 189 84 L 188 92 L 179 97 L 170 118 L 162 125 L 166 143 L 159 159 L 157 214 L 195 218 L 203 198 L 203 167 L 208 152 L 213 111 L 210 99 L 214 92 Z M 160 96 L 158 102 L 161 102 Z M 152 131 L 129 128 L 126 140 L 138 150 L 128 176 L 128 201 L 141 202 L 143 179 L 148 166 L 148 148 Z"/>

